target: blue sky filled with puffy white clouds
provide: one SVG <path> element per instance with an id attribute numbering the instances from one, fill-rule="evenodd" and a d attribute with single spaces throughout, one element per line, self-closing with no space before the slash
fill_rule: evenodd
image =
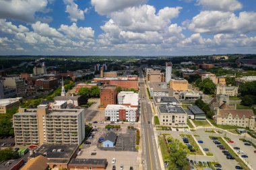
<path id="1" fill-rule="evenodd" d="M 0 55 L 256 53 L 255 0 L 0 0 Z"/>

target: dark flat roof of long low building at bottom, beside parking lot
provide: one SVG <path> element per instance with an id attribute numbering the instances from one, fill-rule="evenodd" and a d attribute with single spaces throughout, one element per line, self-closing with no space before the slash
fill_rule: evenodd
<path id="1" fill-rule="evenodd" d="M 106 159 L 71 159 L 69 166 L 72 165 L 91 165 L 92 167 L 105 167 L 107 164 Z"/>

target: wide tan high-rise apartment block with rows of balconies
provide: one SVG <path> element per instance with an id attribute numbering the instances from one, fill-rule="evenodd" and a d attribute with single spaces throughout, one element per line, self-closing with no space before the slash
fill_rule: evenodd
<path id="1" fill-rule="evenodd" d="M 85 138 L 84 110 L 23 109 L 13 115 L 16 145 L 81 144 Z"/>

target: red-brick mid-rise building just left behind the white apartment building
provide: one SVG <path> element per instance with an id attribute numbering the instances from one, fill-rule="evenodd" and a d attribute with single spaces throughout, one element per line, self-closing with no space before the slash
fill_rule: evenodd
<path id="1" fill-rule="evenodd" d="M 117 103 L 117 86 L 107 85 L 100 90 L 100 105 L 106 107 L 108 104 Z"/>

